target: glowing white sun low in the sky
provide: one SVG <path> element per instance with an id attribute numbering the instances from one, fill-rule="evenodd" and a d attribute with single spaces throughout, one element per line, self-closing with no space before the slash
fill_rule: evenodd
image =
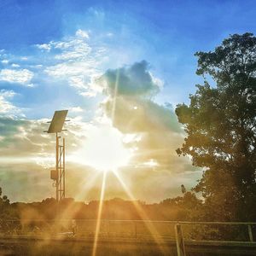
<path id="1" fill-rule="evenodd" d="M 98 171 L 113 171 L 125 166 L 131 150 L 125 148 L 123 135 L 112 125 L 93 126 L 86 135 L 83 148 L 78 152 L 79 163 Z"/>

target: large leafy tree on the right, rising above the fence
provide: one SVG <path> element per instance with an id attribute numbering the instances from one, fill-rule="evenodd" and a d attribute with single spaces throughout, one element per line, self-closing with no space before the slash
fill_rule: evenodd
<path id="1" fill-rule="evenodd" d="M 204 168 L 195 191 L 217 218 L 255 220 L 256 38 L 234 34 L 195 55 L 204 84 L 196 85 L 189 105 L 177 105 L 187 132 L 177 154 Z"/>

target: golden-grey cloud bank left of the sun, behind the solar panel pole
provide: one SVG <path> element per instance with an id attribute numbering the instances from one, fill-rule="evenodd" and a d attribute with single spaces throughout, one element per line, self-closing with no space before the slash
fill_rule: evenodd
<path id="1" fill-rule="evenodd" d="M 0 117 L 0 186 L 11 201 L 41 201 L 55 196 L 49 178 L 49 170 L 55 167 L 55 135 L 43 132 L 49 125 L 47 121 Z M 68 131 L 61 135 L 67 138 L 67 196 L 97 199 L 102 176 L 89 183 L 96 170 L 84 165 L 84 155 L 77 162 L 72 159 L 96 126 L 76 118 L 65 128 Z"/>

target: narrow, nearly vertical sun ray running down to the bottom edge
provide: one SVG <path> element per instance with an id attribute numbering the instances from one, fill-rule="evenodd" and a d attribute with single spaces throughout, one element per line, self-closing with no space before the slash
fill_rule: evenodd
<path id="1" fill-rule="evenodd" d="M 95 232 L 95 237 L 94 237 L 92 256 L 96 256 L 97 241 L 98 241 L 100 228 L 101 228 L 102 206 L 103 206 L 103 200 L 104 200 L 104 195 L 105 195 L 106 177 L 107 177 L 107 172 L 105 171 L 105 172 L 103 172 L 103 177 L 102 177 L 102 190 L 101 190 L 101 197 L 100 197 L 98 215 L 97 215 L 97 220 L 96 220 L 96 232 Z"/>

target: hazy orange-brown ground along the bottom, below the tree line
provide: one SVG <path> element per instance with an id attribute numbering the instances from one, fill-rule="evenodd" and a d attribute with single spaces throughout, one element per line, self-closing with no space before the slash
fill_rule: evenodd
<path id="1" fill-rule="evenodd" d="M 175 222 L 102 220 L 96 255 L 177 255 Z M 249 256 L 256 254 L 253 241 L 199 241 L 192 239 L 195 230 L 217 230 L 220 224 L 183 223 L 187 256 Z M 241 226 L 241 227 L 240 227 Z M 248 238 L 247 225 L 239 224 L 241 237 Z M 230 234 L 237 225 L 222 230 Z M 218 229 L 217 229 L 218 228 Z M 91 255 L 95 240 L 96 220 L 9 221 L 2 223 L 0 255 Z M 154 236 L 149 231 L 154 230 Z M 11 232 L 10 232 L 11 231 Z M 243 232 L 245 231 L 245 232 Z M 193 235 L 194 236 L 194 235 Z"/>

